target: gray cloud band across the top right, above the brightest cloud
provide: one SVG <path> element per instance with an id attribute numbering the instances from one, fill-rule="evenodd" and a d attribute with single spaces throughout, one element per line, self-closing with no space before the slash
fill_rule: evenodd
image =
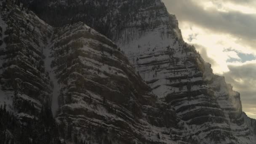
<path id="1" fill-rule="evenodd" d="M 228 0 L 237 3 L 240 0 Z M 243 0 L 241 0 L 243 1 Z M 179 21 L 189 21 L 214 32 L 228 33 L 240 38 L 240 42 L 256 41 L 256 15 L 238 11 L 221 12 L 214 9 L 204 10 L 191 0 L 164 0 L 170 13 L 174 13 Z M 243 3 L 250 3 L 245 0 Z M 251 46 L 255 42 L 249 43 Z"/>

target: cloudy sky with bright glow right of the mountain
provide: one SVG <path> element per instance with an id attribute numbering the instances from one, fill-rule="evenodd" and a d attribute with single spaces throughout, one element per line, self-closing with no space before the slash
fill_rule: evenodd
<path id="1" fill-rule="evenodd" d="M 240 93 L 256 118 L 256 0 L 162 0 L 183 39 Z"/>

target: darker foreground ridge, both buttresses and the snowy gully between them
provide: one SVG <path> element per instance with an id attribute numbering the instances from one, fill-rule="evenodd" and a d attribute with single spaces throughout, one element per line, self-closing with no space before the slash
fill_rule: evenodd
<path id="1" fill-rule="evenodd" d="M 111 40 L 82 22 L 51 27 L 20 8 L 7 2 L 1 9 L 1 91 L 13 93 L 1 93 L 0 102 L 9 102 L 0 109 L 1 143 L 56 144 L 59 136 L 74 144 L 176 143 L 170 128 L 182 126 L 173 108 Z M 56 97 L 59 136 L 50 111 Z"/>

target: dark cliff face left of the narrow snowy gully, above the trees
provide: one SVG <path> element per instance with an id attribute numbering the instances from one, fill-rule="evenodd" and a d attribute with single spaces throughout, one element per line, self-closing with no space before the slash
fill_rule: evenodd
<path id="1" fill-rule="evenodd" d="M 51 101 L 49 78 L 44 69 L 43 45 L 51 26 L 33 13 L 10 8 L 1 11 L 1 87 L 10 110 L 33 115 Z M 9 105 L 10 104 L 10 105 Z M 22 106 L 27 106 L 26 108 Z M 31 107 L 30 107 L 31 106 Z"/>

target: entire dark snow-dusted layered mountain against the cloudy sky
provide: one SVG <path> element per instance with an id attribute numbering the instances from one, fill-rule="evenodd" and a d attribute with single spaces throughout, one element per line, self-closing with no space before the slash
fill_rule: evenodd
<path id="1" fill-rule="evenodd" d="M 56 122 L 37 131 L 52 143 L 255 141 L 255 120 L 242 112 L 240 94 L 183 41 L 159 0 L 23 3 L 2 2 L 0 21 L 0 102 L 13 114 L 1 112 L 18 125 L 52 120 L 52 107 Z M 1 128 L 5 142 L 22 137 Z"/>

